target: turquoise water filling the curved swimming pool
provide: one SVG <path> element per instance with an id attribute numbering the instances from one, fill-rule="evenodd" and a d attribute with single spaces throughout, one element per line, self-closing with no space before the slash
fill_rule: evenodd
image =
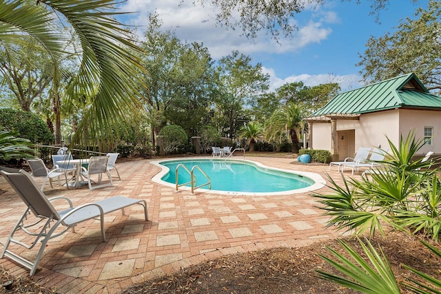
<path id="1" fill-rule="evenodd" d="M 206 160 L 172 160 L 159 162 L 169 168 L 161 180 L 176 184 L 176 167 L 185 165 L 190 171 L 198 165 L 212 180 L 212 190 L 271 193 L 302 189 L 314 185 L 314 180 L 298 174 L 258 167 L 251 162 Z M 182 167 L 179 169 L 178 183 L 190 182 L 190 175 Z M 205 176 L 195 169 L 196 185 L 207 182 Z M 190 185 L 188 185 L 190 186 Z M 208 189 L 208 187 L 203 187 Z"/>

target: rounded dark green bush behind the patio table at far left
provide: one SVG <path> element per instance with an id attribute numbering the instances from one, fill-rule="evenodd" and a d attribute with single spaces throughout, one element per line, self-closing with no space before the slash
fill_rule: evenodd
<path id="1" fill-rule="evenodd" d="M 46 123 L 30 112 L 15 109 L 0 109 L 0 129 L 17 138 L 25 138 L 32 143 L 52 143 L 54 135 Z"/>

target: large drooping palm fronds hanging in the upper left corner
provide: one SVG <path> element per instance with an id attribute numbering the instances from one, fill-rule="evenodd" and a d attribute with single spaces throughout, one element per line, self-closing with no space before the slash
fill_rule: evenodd
<path id="1" fill-rule="evenodd" d="M 115 0 L 0 1 L 1 50 L 13 61 L 14 48 L 23 43 L 23 34 L 45 48 L 54 64 L 50 93 L 56 107 L 59 81 L 63 77 L 60 65 L 66 53 L 76 53 L 74 48 L 65 47 L 69 43 L 68 34 L 62 28 L 72 28 L 74 39 L 79 40 L 81 63 L 76 76 L 70 79 L 65 99 L 81 101 L 88 107 L 74 140 L 82 138 L 84 129 L 91 138 L 96 138 L 112 121 L 133 117 L 142 109 L 141 95 L 136 90 L 136 72 L 142 66 L 134 55 L 139 48 L 132 42 L 132 34 L 112 19 L 119 14 L 114 11 L 116 3 Z"/>

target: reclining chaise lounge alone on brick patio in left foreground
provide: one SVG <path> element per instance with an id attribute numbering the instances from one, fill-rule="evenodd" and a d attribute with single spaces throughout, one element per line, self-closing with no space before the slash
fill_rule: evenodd
<path id="1" fill-rule="evenodd" d="M 21 200 L 23 200 L 28 207 L 15 227 L 12 229 L 8 240 L 6 240 L 5 248 L 3 249 L 0 258 L 6 256 L 14 262 L 25 266 L 26 268 L 30 269 L 30 275 L 34 275 L 48 241 L 62 235 L 70 228 L 72 228 L 74 231 L 74 226 L 79 224 L 79 222 L 90 220 L 92 218 L 99 219 L 101 222 L 101 239 L 103 242 L 106 242 L 104 230 L 104 215 L 106 213 L 121 209 L 124 214 L 125 207 L 129 207 L 133 204 L 141 204 L 144 208 L 145 220 L 148 220 L 147 202 L 145 202 L 145 200 L 115 196 L 112 198 L 105 198 L 104 200 L 83 204 L 79 207 L 74 207 L 69 198 L 46 198 L 45 194 L 39 189 L 37 184 L 26 171 L 20 170 L 18 173 L 0 171 L 0 174 L 6 178 L 12 188 L 14 188 L 14 190 L 17 192 Z M 51 201 L 56 199 L 63 199 L 67 201 L 69 208 L 61 211 L 55 209 Z M 31 214 L 37 218 L 37 221 L 32 220 L 33 218 L 30 217 Z M 55 233 L 55 231 L 59 229 L 59 226 L 62 228 L 61 231 L 57 231 L 57 233 Z M 23 242 L 25 239 L 20 238 L 22 236 L 15 239 L 14 234 L 17 231 L 23 231 L 28 235 L 32 235 L 34 236 L 35 240 L 30 244 L 26 244 Z M 37 253 L 37 257 L 32 262 L 18 255 L 17 253 L 8 250 L 11 242 L 19 244 L 26 249 L 32 249 L 37 244 L 41 245 Z"/>

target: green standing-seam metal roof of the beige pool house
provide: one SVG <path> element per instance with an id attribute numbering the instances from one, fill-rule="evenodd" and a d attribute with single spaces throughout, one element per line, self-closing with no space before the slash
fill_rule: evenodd
<path id="1" fill-rule="evenodd" d="M 340 93 L 308 118 L 364 114 L 394 108 L 441 110 L 441 97 L 430 94 L 411 73 Z"/>

